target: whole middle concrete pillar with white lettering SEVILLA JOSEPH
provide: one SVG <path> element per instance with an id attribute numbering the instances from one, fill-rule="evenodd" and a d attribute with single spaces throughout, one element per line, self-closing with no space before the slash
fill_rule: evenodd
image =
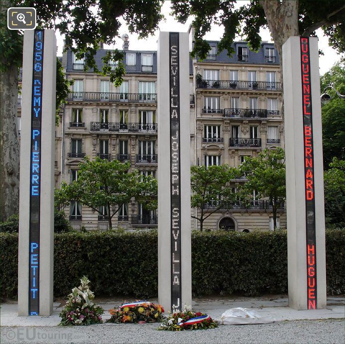
<path id="1" fill-rule="evenodd" d="M 158 40 L 158 298 L 192 303 L 188 34 Z"/>

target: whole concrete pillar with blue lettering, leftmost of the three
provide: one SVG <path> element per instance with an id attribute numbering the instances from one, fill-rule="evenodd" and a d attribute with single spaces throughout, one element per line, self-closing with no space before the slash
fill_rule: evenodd
<path id="1" fill-rule="evenodd" d="M 18 314 L 48 316 L 53 311 L 54 30 L 26 30 L 23 56 Z"/>

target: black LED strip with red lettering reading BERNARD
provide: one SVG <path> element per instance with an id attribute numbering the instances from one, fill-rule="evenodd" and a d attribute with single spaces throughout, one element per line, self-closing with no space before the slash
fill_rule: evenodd
<path id="1" fill-rule="evenodd" d="M 301 37 L 302 70 L 302 108 L 304 137 L 304 181 L 306 203 L 306 239 L 307 239 L 307 306 L 317 308 L 316 289 L 316 248 L 315 248 L 315 183 L 313 123 L 311 106 L 309 38 Z"/>

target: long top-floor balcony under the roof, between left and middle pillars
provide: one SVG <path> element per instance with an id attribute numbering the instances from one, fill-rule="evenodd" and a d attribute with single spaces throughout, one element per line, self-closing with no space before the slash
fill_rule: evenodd
<path id="1" fill-rule="evenodd" d="M 69 101 L 157 103 L 156 93 L 70 92 Z"/>

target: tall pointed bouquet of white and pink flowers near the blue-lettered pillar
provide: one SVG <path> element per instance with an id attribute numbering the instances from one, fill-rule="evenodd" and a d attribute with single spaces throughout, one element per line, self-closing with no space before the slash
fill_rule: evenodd
<path id="1" fill-rule="evenodd" d="M 104 310 L 92 302 L 94 294 L 90 290 L 87 277 L 80 280 L 81 285 L 74 287 L 68 296 L 65 307 L 60 312 L 60 325 L 91 325 L 102 323 Z"/>

